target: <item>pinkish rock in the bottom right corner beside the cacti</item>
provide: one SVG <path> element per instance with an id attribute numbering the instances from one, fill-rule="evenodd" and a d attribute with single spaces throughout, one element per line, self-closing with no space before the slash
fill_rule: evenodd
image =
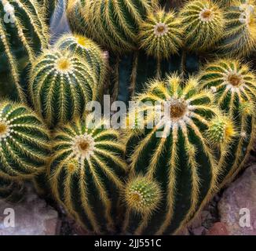
<path id="1" fill-rule="evenodd" d="M 230 235 L 256 235 L 256 165 L 224 191 L 218 203 L 221 222 Z"/>

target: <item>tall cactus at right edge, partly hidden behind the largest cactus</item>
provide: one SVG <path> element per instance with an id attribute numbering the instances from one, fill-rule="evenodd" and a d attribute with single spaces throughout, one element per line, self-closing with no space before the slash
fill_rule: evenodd
<path id="1" fill-rule="evenodd" d="M 223 177 L 229 173 L 225 180 L 231 181 L 244 166 L 255 140 L 256 77 L 247 64 L 228 59 L 207 64 L 201 82 L 213 91 L 219 107 L 236 125 L 237 135 L 219 164 L 225 167 Z"/>

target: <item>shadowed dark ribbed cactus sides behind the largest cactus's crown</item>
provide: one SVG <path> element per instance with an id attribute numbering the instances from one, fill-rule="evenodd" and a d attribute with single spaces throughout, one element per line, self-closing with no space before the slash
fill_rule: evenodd
<path id="1" fill-rule="evenodd" d="M 111 53 L 110 64 L 112 100 L 127 103 L 135 93 L 140 93 L 144 89 L 149 79 L 156 78 L 158 71 L 160 78 L 173 72 L 184 77 L 195 74 L 199 71 L 199 56 L 181 50 L 170 59 L 158 62 L 153 56 L 147 56 L 143 50 L 139 50 L 126 56 L 116 56 Z"/>

